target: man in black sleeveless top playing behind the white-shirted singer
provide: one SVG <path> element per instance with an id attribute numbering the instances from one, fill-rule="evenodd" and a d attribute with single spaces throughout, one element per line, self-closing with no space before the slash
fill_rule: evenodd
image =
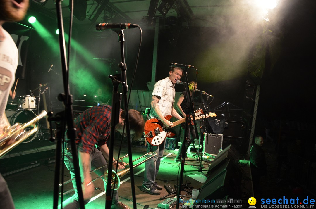
<path id="1" fill-rule="evenodd" d="M 190 84 L 189 85 L 190 97 L 192 97 L 193 91 L 197 88 L 197 83 L 195 83 L 194 81 L 191 81 L 189 84 Z M 185 113 L 184 113 L 185 109 L 190 108 L 189 102 L 190 102 L 190 99 L 189 99 L 188 93 L 186 91 L 182 92 L 180 94 L 180 97 L 179 97 L 178 102 L 177 102 L 177 108 L 183 117 L 185 117 Z M 186 148 L 189 148 L 191 140 L 194 140 L 196 138 L 195 129 L 192 127 L 191 124 L 189 124 L 187 134 L 188 134 L 188 139 L 186 141 Z M 192 137 L 191 137 L 191 135 L 192 135 Z M 175 162 L 180 162 L 181 150 L 182 150 L 182 145 L 183 145 L 184 141 L 185 141 L 185 136 L 183 137 L 183 141 L 181 142 L 181 146 L 179 148 L 178 155 L 174 159 Z M 186 154 L 185 154 L 185 158 L 189 159 Z"/>

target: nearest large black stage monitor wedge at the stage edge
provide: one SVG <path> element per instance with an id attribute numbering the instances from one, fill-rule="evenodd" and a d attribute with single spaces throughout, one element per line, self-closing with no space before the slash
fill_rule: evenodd
<path id="1" fill-rule="evenodd" d="M 242 173 L 238 165 L 228 159 L 216 169 L 202 185 L 197 200 L 222 200 L 225 197 L 240 199 Z"/>

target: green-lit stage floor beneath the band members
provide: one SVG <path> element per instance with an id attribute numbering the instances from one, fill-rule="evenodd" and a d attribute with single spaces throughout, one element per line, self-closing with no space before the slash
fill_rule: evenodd
<path id="1" fill-rule="evenodd" d="M 35 141 L 35 140 L 34 140 Z M 31 144 L 30 142 L 29 144 Z M 35 143 L 35 142 L 34 142 Z M 115 145 L 114 156 L 117 156 L 119 148 L 119 142 Z M 147 146 L 143 145 L 132 145 L 133 159 L 136 159 L 147 152 Z M 121 156 L 127 152 L 126 142 L 123 143 Z M 157 175 L 156 181 L 159 185 L 164 186 L 167 182 L 171 185 L 177 185 L 179 181 L 180 166 L 179 163 L 174 162 L 178 151 L 165 150 L 164 156 L 161 161 L 160 170 Z M 207 170 L 209 169 L 210 162 L 203 161 L 204 171 L 198 171 L 200 161 L 197 161 L 195 157 L 195 152 L 188 153 L 189 160 L 186 160 L 184 165 L 185 173 L 183 176 L 183 183 L 187 184 L 191 189 L 199 189 L 202 187 L 204 181 L 207 179 Z M 19 158 L 27 158 L 28 155 L 20 156 Z M 16 157 L 18 158 L 18 157 Z M 116 158 L 116 157 L 115 157 Z M 128 162 L 128 158 L 125 158 L 125 162 Z M 4 178 L 8 183 L 9 189 L 11 191 L 15 207 L 17 209 L 33 209 L 33 208 L 52 208 L 53 206 L 53 182 L 54 182 L 54 163 L 39 164 L 33 168 L 22 170 L 21 172 L 5 175 Z M 134 162 L 133 164 L 136 164 Z M 144 193 L 140 190 L 143 175 L 144 175 L 144 163 L 134 168 L 134 180 L 135 180 L 135 192 L 136 192 L 136 203 L 137 208 L 157 208 L 158 204 L 163 200 L 160 200 L 163 196 L 167 195 L 168 192 L 165 188 L 161 191 L 161 195 L 150 195 Z M 128 168 L 128 167 L 126 167 Z M 3 171 L 2 171 L 3 173 Z M 68 180 L 69 172 L 65 169 L 64 178 Z M 93 178 L 96 177 L 94 174 Z M 96 188 L 100 190 L 95 190 L 95 196 L 92 198 L 85 208 L 105 208 L 105 192 L 103 181 L 98 179 L 94 182 Z M 71 183 L 66 184 L 64 190 L 72 188 Z M 102 191 L 101 191 L 102 190 Z M 190 189 L 189 189 L 190 190 Z M 126 174 L 121 178 L 121 185 L 119 188 L 120 201 L 124 204 L 133 208 L 132 195 L 131 195 L 131 180 L 130 175 Z M 64 196 L 67 199 L 70 195 Z M 185 200 L 191 199 L 191 194 L 186 191 L 181 191 Z M 169 195 L 168 197 L 174 197 L 175 195 Z M 60 199 L 59 199 L 60 201 Z M 180 204 L 183 205 L 183 204 Z M 175 207 L 174 207 L 175 208 Z"/>

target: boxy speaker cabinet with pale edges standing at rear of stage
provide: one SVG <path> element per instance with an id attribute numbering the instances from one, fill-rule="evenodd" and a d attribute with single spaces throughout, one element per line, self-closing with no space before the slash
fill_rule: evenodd
<path id="1" fill-rule="evenodd" d="M 203 152 L 210 155 L 217 155 L 219 149 L 223 146 L 222 134 L 204 134 Z"/>

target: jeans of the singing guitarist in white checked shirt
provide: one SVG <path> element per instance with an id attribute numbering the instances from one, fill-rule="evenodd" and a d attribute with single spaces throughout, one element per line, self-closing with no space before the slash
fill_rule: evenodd
<path id="1" fill-rule="evenodd" d="M 145 162 L 145 174 L 143 185 L 151 186 L 155 182 L 155 178 L 157 176 L 160 160 L 163 156 L 163 152 L 165 150 L 166 139 L 159 146 L 152 146 L 148 143 L 147 153 L 148 152 L 156 152 L 157 155 L 150 160 Z"/>

